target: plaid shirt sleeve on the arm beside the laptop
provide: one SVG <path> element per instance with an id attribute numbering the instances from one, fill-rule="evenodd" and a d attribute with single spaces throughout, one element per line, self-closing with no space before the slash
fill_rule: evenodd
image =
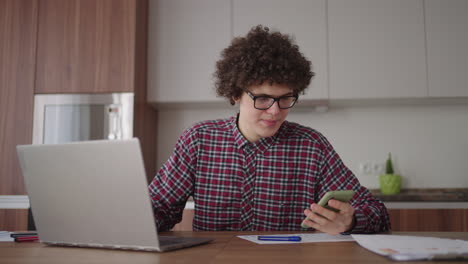
<path id="1" fill-rule="evenodd" d="M 158 231 L 168 231 L 182 220 L 187 199 L 193 194 L 196 145 L 194 131 L 185 131 L 148 186 Z"/>

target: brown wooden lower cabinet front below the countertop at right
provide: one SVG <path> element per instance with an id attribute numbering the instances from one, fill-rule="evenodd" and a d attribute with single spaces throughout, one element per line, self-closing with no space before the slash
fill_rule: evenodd
<path id="1" fill-rule="evenodd" d="M 393 231 L 468 231 L 468 209 L 388 209 L 388 213 Z"/>

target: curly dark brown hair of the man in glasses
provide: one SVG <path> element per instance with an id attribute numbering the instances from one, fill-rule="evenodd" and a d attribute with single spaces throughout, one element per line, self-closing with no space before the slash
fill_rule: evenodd
<path id="1" fill-rule="evenodd" d="M 270 32 L 262 25 L 253 27 L 245 37 L 234 38 L 222 51 L 213 74 L 217 94 L 232 105 L 247 87 L 265 81 L 303 93 L 314 75 L 310 61 L 289 35 Z"/>

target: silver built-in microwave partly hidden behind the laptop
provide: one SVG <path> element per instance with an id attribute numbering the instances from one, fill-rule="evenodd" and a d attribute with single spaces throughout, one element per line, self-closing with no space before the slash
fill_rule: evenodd
<path id="1" fill-rule="evenodd" d="M 133 137 L 133 93 L 36 94 L 33 144 Z"/>

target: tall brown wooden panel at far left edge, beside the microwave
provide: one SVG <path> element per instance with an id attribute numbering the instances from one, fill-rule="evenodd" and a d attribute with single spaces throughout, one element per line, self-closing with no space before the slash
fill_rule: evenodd
<path id="1" fill-rule="evenodd" d="M 0 0 L 0 195 L 25 194 L 16 145 L 32 142 L 36 31 L 37 1 Z"/>

